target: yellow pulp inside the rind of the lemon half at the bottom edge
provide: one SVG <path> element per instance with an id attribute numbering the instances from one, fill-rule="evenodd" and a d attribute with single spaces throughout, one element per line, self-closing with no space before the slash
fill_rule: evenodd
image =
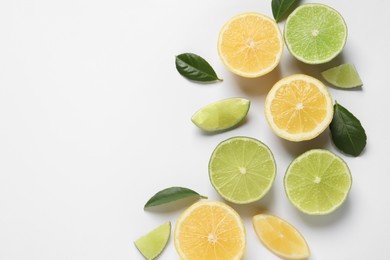
<path id="1" fill-rule="evenodd" d="M 176 239 L 188 260 L 232 259 L 245 244 L 237 218 L 215 206 L 194 209 L 181 223 Z"/>

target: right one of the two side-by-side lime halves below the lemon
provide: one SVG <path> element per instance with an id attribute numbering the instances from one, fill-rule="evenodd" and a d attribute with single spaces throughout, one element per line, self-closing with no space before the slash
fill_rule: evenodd
<path id="1" fill-rule="evenodd" d="M 288 199 L 309 215 L 325 215 L 336 210 L 346 200 L 351 185 L 351 173 L 343 159 L 321 149 L 296 158 L 284 177 Z"/>

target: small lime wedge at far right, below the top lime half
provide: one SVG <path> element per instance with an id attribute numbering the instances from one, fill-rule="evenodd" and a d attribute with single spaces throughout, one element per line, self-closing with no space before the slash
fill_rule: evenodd
<path id="1" fill-rule="evenodd" d="M 321 75 L 330 84 L 339 88 L 356 88 L 363 85 L 353 64 L 342 64 L 323 71 Z"/>

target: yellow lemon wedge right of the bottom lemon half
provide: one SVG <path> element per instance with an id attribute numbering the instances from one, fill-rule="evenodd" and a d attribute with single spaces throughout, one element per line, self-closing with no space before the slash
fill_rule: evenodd
<path id="1" fill-rule="evenodd" d="M 309 246 L 299 231 L 287 221 L 268 214 L 252 219 L 257 237 L 275 255 L 284 259 L 306 259 Z"/>

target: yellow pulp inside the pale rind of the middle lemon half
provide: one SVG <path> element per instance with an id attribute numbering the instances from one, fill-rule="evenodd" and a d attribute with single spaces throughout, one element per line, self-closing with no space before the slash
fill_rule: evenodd
<path id="1" fill-rule="evenodd" d="M 271 104 L 274 123 L 291 134 L 313 131 L 327 116 L 327 99 L 303 80 L 281 86 Z"/>

